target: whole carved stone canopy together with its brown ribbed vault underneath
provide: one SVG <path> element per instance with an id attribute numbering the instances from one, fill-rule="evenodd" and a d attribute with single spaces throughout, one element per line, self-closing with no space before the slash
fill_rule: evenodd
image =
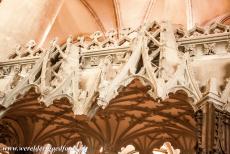
<path id="1" fill-rule="evenodd" d="M 229 36 L 217 23 L 184 31 L 153 22 L 61 46 L 54 39 L 48 49 L 30 41 L 0 63 L 5 143 L 83 141 L 91 153 L 132 144 L 148 154 L 169 141 L 193 153 L 203 102 L 230 111 Z"/>

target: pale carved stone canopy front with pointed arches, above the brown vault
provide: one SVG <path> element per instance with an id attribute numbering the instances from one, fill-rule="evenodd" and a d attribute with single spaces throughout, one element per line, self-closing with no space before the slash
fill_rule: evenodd
<path id="1" fill-rule="evenodd" d="M 13 64 L 0 65 L 0 82 L 7 80 L 0 89 L 1 102 L 9 106 L 32 86 L 47 106 L 67 97 L 76 114 L 87 114 L 93 102 L 105 108 L 120 87 L 136 78 L 150 87 L 148 93 L 154 99 L 164 99 L 170 92 L 183 89 L 198 101 L 202 94 L 189 61 L 198 56 L 198 49 L 204 56 L 216 54 L 219 44 L 210 40 L 214 34 L 225 36 L 227 27 L 217 24 L 208 30 L 195 27 L 186 32 L 174 31 L 167 22 L 153 22 L 137 30 L 123 29 L 119 34 L 112 30 L 105 36 L 97 31 L 90 38 L 69 37 L 63 45 L 55 38 L 45 53 L 30 41 L 17 48 L 11 57 Z"/>

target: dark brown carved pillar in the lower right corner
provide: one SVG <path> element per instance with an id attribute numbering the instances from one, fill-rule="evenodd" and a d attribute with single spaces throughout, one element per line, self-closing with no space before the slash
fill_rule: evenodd
<path id="1" fill-rule="evenodd" d="M 197 122 L 197 153 L 229 153 L 230 114 L 217 109 L 213 100 L 203 104 L 195 114 Z"/>

